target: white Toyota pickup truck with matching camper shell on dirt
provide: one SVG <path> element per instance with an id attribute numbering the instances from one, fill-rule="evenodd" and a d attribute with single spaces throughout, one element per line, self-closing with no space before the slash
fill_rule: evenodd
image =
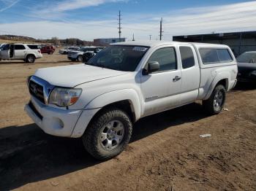
<path id="1" fill-rule="evenodd" d="M 142 117 L 196 100 L 221 112 L 237 72 L 226 45 L 121 42 L 88 63 L 38 69 L 28 78 L 25 110 L 45 133 L 82 137 L 91 155 L 106 160 L 124 150 Z"/>

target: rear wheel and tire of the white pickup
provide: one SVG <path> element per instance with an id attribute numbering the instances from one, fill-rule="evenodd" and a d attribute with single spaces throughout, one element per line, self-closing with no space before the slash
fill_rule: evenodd
<path id="1" fill-rule="evenodd" d="M 223 85 L 217 85 L 208 100 L 203 101 L 203 106 L 209 114 L 219 114 L 226 101 L 226 90 Z"/>

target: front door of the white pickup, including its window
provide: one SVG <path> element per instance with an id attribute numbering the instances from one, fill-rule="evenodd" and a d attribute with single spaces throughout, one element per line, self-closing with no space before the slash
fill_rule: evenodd
<path id="1" fill-rule="evenodd" d="M 152 74 L 141 73 L 144 103 L 142 116 L 172 109 L 180 102 L 181 69 L 176 59 L 175 47 L 155 50 L 147 63 L 152 61 L 157 61 L 160 68 Z"/>

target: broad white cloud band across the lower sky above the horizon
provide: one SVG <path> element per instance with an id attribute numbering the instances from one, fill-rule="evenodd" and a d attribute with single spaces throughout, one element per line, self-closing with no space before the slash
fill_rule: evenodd
<path id="1" fill-rule="evenodd" d="M 63 8 L 64 9 L 64 8 Z M 163 17 L 163 39 L 170 40 L 173 35 L 205 34 L 215 31 L 254 31 L 256 28 L 256 1 L 221 6 L 194 7 L 177 9 L 162 14 L 126 14 L 123 17 L 122 36 L 135 40 L 159 38 L 159 20 Z M 18 31 L 17 34 L 26 34 L 36 38 L 77 37 L 92 40 L 96 38 L 117 37 L 116 15 L 113 20 L 80 21 L 39 20 L 23 23 L 0 23 L 4 31 Z M 6 34 L 6 32 L 1 32 Z"/>

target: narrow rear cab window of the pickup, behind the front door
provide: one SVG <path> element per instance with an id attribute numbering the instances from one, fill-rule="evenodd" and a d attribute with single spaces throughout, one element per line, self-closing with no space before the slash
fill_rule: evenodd
<path id="1" fill-rule="evenodd" d="M 188 69 L 195 66 L 195 58 L 191 47 L 179 47 L 181 52 L 182 68 Z"/>

